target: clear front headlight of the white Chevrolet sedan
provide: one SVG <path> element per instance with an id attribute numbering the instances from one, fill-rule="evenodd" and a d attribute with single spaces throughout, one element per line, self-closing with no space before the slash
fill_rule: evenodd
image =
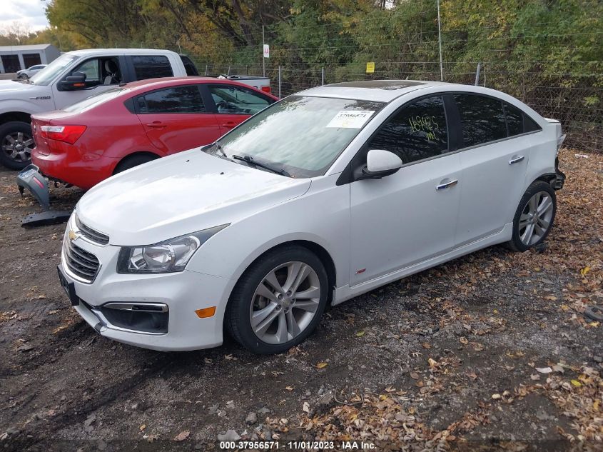
<path id="1" fill-rule="evenodd" d="M 172 273 L 183 271 L 197 249 L 228 224 L 147 246 L 124 246 L 117 260 L 118 273 Z"/>

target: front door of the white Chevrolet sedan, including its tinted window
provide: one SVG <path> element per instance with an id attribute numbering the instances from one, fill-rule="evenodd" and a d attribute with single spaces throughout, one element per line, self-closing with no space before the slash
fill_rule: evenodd
<path id="1" fill-rule="evenodd" d="M 350 286 L 454 246 L 462 181 L 449 136 L 442 96 L 429 96 L 387 119 L 354 159 L 363 165 L 370 149 L 385 149 L 404 166 L 350 184 Z"/>

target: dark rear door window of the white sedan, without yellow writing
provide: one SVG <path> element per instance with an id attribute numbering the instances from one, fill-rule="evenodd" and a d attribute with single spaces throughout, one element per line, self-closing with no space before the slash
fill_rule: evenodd
<path id="1" fill-rule="evenodd" d="M 462 125 L 462 147 L 478 146 L 507 138 L 502 101 L 478 94 L 455 94 Z"/>

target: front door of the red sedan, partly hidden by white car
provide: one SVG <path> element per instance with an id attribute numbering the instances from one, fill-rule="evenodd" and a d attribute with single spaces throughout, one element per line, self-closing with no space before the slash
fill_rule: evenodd
<path id="1" fill-rule="evenodd" d="M 221 134 L 226 134 L 249 116 L 275 102 L 258 91 L 235 84 L 216 82 L 204 85 L 203 88 L 208 90 L 213 101 Z"/>

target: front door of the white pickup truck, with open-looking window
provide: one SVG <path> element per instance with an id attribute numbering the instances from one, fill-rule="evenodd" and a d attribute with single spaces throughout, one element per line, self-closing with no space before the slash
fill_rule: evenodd
<path id="1" fill-rule="evenodd" d="M 64 89 L 61 86 L 61 81 L 65 81 L 68 76 L 75 72 L 86 74 L 86 81 L 84 82 L 86 86 L 75 90 Z M 66 71 L 52 86 L 55 108 L 60 110 L 89 96 L 115 88 L 120 81 L 128 81 L 124 79 L 122 74 L 126 74 L 126 64 L 123 56 L 93 56 L 78 61 L 73 69 Z"/>

